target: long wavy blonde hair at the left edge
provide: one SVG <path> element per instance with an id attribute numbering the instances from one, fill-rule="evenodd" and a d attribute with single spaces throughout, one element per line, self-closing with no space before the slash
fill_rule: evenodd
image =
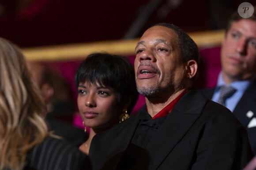
<path id="1" fill-rule="evenodd" d="M 3 38 L 0 92 L 0 170 L 21 170 L 27 152 L 49 135 L 46 108 L 20 49 Z"/>

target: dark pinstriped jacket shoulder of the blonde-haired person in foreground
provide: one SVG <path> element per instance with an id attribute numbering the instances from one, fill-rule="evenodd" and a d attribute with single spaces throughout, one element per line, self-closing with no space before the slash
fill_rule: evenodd
<path id="1" fill-rule="evenodd" d="M 37 170 L 90 170 L 87 155 L 79 151 L 72 143 L 55 137 L 46 137 L 34 147 L 28 154 L 27 164 Z"/>

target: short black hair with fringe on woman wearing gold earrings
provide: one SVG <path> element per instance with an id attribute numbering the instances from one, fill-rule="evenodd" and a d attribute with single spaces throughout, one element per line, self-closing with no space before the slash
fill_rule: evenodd
<path id="1" fill-rule="evenodd" d="M 88 55 L 75 73 L 76 89 L 79 83 L 85 82 L 116 90 L 120 94 L 120 104 L 132 98 L 128 113 L 138 100 L 134 67 L 128 58 L 107 53 Z"/>

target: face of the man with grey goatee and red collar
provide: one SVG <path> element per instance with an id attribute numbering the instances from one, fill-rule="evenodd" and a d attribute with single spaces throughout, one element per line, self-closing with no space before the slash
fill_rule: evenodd
<path id="1" fill-rule="evenodd" d="M 181 88 L 185 70 L 178 36 L 172 29 L 163 26 L 147 29 L 135 51 L 136 85 L 140 94 L 169 95 Z"/>

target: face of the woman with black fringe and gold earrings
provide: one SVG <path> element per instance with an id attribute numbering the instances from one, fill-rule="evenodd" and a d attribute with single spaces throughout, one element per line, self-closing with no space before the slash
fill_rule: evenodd
<path id="1" fill-rule="evenodd" d="M 118 96 L 116 90 L 98 83 L 79 83 L 77 103 L 84 125 L 98 132 L 117 124 L 124 109 Z"/>

